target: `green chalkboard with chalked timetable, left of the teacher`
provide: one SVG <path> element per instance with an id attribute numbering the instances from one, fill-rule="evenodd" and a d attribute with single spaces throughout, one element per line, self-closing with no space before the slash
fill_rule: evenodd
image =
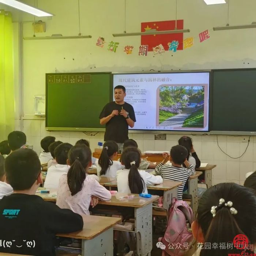
<path id="1" fill-rule="evenodd" d="M 46 74 L 46 129 L 104 131 L 99 114 L 111 100 L 110 72 Z"/>

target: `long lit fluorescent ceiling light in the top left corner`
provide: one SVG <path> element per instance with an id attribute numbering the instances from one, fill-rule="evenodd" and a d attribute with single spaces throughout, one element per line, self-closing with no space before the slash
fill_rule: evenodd
<path id="1" fill-rule="evenodd" d="M 49 12 L 39 10 L 38 8 L 32 7 L 27 4 L 23 4 L 16 0 L 0 0 L 0 3 L 9 5 L 9 6 L 16 8 L 18 10 L 21 10 L 23 12 L 28 12 L 28 13 L 33 14 L 38 17 L 53 16 L 53 14 L 50 14 Z"/>

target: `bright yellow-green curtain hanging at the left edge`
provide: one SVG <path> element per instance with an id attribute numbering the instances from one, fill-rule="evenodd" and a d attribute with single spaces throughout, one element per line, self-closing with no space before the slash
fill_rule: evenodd
<path id="1" fill-rule="evenodd" d="M 0 10 L 0 139 L 14 130 L 14 66 L 11 12 Z M 1 141 L 0 140 L 0 141 Z"/>

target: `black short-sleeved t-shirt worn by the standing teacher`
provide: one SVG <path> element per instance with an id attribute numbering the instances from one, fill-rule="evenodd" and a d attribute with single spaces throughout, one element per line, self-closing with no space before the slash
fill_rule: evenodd
<path id="1" fill-rule="evenodd" d="M 115 101 L 109 102 L 101 111 L 99 118 L 109 116 L 113 110 L 118 110 L 120 113 L 123 109 L 129 113 L 130 118 L 136 122 L 135 113 L 132 105 L 124 102 L 123 105 L 117 104 Z M 106 123 L 106 132 L 104 140 L 114 140 L 117 143 L 124 143 L 128 139 L 128 124 L 124 116 L 118 115 L 112 117 L 108 123 Z"/>

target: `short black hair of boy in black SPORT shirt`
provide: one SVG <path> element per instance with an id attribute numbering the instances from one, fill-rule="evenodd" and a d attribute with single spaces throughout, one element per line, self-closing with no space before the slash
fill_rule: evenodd
<path id="1" fill-rule="evenodd" d="M 30 189 L 41 172 L 37 153 L 29 148 L 20 148 L 5 159 L 7 182 L 14 190 Z"/>

